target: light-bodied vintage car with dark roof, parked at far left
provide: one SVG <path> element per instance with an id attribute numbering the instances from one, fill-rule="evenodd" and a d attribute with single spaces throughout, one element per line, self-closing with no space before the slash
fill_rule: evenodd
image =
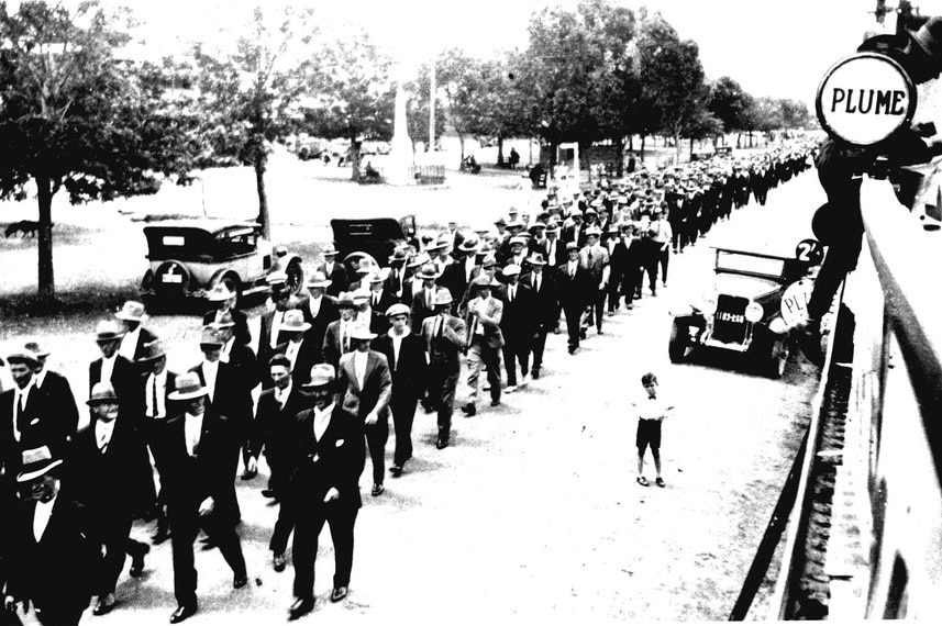
<path id="1" fill-rule="evenodd" d="M 288 275 L 293 292 L 303 289 L 301 258 L 276 249 L 254 222 L 223 220 L 167 221 L 145 226 L 151 267 L 141 281 L 142 297 L 166 301 L 204 298 L 225 283 L 236 300 L 269 289 L 274 271 Z"/>

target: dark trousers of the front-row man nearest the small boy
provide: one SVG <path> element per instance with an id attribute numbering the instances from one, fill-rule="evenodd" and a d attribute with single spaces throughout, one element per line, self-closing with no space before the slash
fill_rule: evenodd
<path id="1" fill-rule="evenodd" d="M 314 599 L 314 561 L 318 558 L 318 536 L 328 523 L 334 545 L 334 589 L 350 585 L 353 569 L 353 529 L 358 507 L 334 502 L 299 501 L 298 527 L 295 529 L 293 555 L 295 597 Z"/>

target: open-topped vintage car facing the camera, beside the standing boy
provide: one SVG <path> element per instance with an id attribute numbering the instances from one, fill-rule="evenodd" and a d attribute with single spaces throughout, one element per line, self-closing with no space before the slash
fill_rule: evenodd
<path id="1" fill-rule="evenodd" d="M 671 361 L 680 362 L 697 346 L 709 346 L 752 355 L 765 372 L 780 378 L 795 325 L 791 310 L 806 306 L 810 282 L 802 278 L 819 260 L 818 251 L 810 249 L 817 242 L 808 242 L 795 257 L 714 248 L 712 288 L 697 302 L 672 308 Z"/>

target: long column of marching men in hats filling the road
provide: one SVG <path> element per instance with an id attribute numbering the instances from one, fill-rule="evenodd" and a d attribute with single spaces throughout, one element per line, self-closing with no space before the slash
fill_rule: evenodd
<path id="1" fill-rule="evenodd" d="M 642 170 L 572 198 L 551 190 L 533 220 L 511 210 L 494 227 L 450 224 L 424 245 L 404 243 L 381 269 L 374 259 L 344 267 L 329 245 L 306 294 L 291 292 L 281 272 L 269 277 L 257 343 L 235 293 L 217 284 L 202 361 L 186 372 L 167 369 L 143 304 L 126 302 L 96 328 L 100 356 L 89 364 L 81 429 L 68 380 L 45 368 L 48 350 L 26 343 L 8 356 L 13 384 L 0 393 L 0 624 L 15 623 L 30 603 L 43 624 L 77 624 L 92 597 L 93 614 L 112 611 L 126 557 L 132 577 L 145 568 L 149 547 L 131 538 L 138 517 L 156 519 L 155 544 L 171 541 L 171 623 L 198 610 L 200 534 L 243 588 L 234 479 L 240 460 L 241 478 L 254 479 L 262 456 L 262 494 L 279 505 L 269 543 L 276 571 L 287 568 L 293 533 L 289 618 L 314 606 L 324 524 L 336 560 L 330 599 L 343 600 L 359 477 L 368 455 L 370 493 L 384 493 L 390 418 L 389 472 L 398 478 L 413 454 L 420 404 L 436 413 L 436 448 L 451 445 L 463 367 L 463 414 L 477 414 L 485 391 L 499 405 L 544 375 L 547 336 L 562 321 L 575 355 L 590 328 L 602 334 L 607 315 L 643 295 L 645 277 L 652 295 L 658 273 L 666 287 L 672 254 L 750 195 L 764 204 L 769 188 L 808 167 L 810 150 Z"/>

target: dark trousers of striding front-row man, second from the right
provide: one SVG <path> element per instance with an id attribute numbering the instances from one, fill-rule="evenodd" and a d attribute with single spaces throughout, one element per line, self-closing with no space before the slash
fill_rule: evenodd
<path id="1" fill-rule="evenodd" d="M 197 602 L 197 570 L 193 564 L 193 541 L 202 528 L 219 547 L 222 558 L 235 575 L 245 575 L 245 558 L 235 527 L 218 511 L 206 517 L 199 514 L 200 503 L 193 500 L 170 502 L 170 543 L 174 552 L 174 595 L 177 603 L 192 606 Z"/>

